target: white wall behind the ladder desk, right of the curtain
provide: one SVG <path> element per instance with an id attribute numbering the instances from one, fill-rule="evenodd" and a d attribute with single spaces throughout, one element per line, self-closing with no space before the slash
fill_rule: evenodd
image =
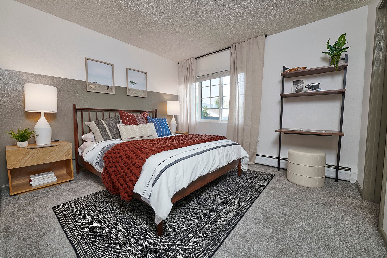
<path id="1" fill-rule="evenodd" d="M 351 10 L 317 22 L 268 36 L 265 42 L 264 77 L 258 154 L 277 155 L 282 66 L 319 67 L 328 64 L 327 40 L 331 44 L 344 32 L 348 46 L 348 73 L 340 165 L 351 167 L 351 181 L 357 179 L 361 110 L 365 66 L 368 7 Z M 343 55 L 344 56 L 344 55 Z M 343 72 L 306 76 L 307 83 L 321 82 L 323 90 L 340 89 Z M 291 92 L 293 78 L 285 79 L 284 92 Z M 284 99 L 283 128 L 338 130 L 341 95 Z M 283 135 L 281 156 L 290 147 L 323 150 L 327 164 L 336 164 L 338 137 Z"/>

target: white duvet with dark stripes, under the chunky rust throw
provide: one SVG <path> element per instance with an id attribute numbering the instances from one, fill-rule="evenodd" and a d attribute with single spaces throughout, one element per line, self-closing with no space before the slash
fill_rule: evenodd
<path id="1" fill-rule="evenodd" d="M 121 139 L 97 142 L 84 151 L 83 158 L 102 172 L 103 154 L 121 142 Z M 242 170 L 246 171 L 248 154 L 241 145 L 231 140 L 163 151 L 146 160 L 133 191 L 151 205 L 155 212 L 156 224 L 159 224 L 170 213 L 171 198 L 177 191 L 187 187 L 200 176 L 236 159 L 241 159 Z"/>

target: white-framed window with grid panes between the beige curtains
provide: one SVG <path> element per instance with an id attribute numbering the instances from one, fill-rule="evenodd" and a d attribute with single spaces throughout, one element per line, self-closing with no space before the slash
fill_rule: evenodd
<path id="1" fill-rule="evenodd" d="M 203 75 L 196 78 L 198 121 L 228 121 L 230 72 Z"/>

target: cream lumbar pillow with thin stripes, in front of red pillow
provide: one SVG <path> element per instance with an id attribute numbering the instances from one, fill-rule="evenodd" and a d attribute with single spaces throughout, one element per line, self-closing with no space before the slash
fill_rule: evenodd
<path id="1" fill-rule="evenodd" d="M 124 142 L 131 140 L 159 138 L 153 123 L 142 125 L 117 125 Z"/>

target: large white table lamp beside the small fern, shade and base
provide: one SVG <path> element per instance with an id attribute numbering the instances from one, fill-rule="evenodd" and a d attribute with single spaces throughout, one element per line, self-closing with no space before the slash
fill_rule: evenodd
<path id="1" fill-rule="evenodd" d="M 24 110 L 40 112 L 38 123 L 34 126 L 36 145 L 51 144 L 51 126 L 45 113 L 57 113 L 57 88 L 43 84 L 24 84 Z"/>

